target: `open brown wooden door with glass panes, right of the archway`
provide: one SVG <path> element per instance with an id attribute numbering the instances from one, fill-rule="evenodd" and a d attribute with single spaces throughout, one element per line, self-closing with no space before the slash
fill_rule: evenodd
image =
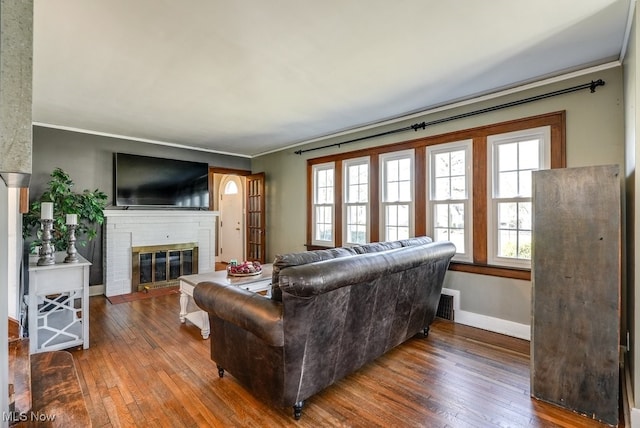
<path id="1" fill-rule="evenodd" d="M 247 179 L 247 260 L 265 263 L 265 194 L 264 172 L 246 176 Z"/>

